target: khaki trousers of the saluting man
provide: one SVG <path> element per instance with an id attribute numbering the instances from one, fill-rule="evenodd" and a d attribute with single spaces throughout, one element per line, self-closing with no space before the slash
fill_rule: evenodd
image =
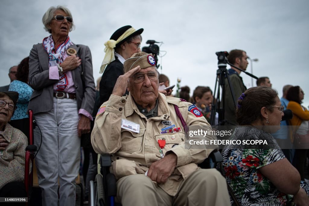
<path id="1" fill-rule="evenodd" d="M 156 187 L 145 174 L 125 176 L 117 182 L 117 198 L 123 206 L 225 206 L 230 204 L 226 180 L 216 169 L 199 169 L 185 179 L 175 197 Z"/>

